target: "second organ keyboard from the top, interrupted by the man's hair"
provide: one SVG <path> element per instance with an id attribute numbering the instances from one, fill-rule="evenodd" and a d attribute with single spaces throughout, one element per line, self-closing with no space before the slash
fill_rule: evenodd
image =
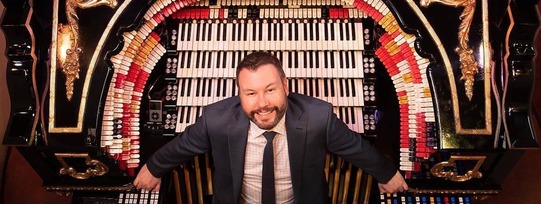
<path id="1" fill-rule="evenodd" d="M 286 75 L 292 78 L 312 76 L 362 78 L 364 73 L 375 72 L 374 59 L 370 57 L 363 59 L 361 50 L 273 51 L 273 53 L 282 61 Z M 170 72 L 175 72 L 179 78 L 200 76 L 234 78 L 236 65 L 247 54 L 248 51 L 180 51 L 178 59 L 171 59 Z M 371 63 L 368 62 L 370 59 Z M 370 70 L 371 68 L 373 70 Z"/>

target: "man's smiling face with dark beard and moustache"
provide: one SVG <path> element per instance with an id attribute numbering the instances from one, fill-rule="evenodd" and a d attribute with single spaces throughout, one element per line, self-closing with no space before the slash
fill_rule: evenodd
<path id="1" fill-rule="evenodd" d="M 246 117 L 259 128 L 272 129 L 287 109 L 287 79 L 272 64 L 260 66 L 256 71 L 244 69 L 238 78 L 240 103 Z"/>

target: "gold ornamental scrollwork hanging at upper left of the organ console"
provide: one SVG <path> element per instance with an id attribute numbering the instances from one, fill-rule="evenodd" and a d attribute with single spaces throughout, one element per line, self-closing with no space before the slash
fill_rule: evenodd
<path id="1" fill-rule="evenodd" d="M 66 76 L 66 98 L 71 101 L 73 84 L 79 78 L 79 57 L 83 53 L 80 44 L 79 16 L 77 9 L 87 9 L 98 6 L 115 8 L 117 0 L 66 0 L 66 18 L 68 24 L 58 27 L 57 61 L 62 73 Z"/>

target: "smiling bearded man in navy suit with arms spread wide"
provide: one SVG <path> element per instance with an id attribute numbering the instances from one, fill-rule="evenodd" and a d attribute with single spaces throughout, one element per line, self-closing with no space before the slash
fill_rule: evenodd
<path id="1" fill-rule="evenodd" d="M 134 185 L 157 191 L 161 176 L 212 150 L 213 203 L 262 203 L 267 197 L 262 191 L 268 189 L 262 184 L 267 143 L 262 134 L 273 131 L 272 202 L 324 203 L 327 150 L 374 176 L 381 192 L 408 189 L 396 168 L 340 121 L 331 104 L 289 93 L 276 57 L 265 52 L 246 56 L 237 67 L 237 86 L 239 96 L 208 105 L 195 124 L 158 150 Z"/>

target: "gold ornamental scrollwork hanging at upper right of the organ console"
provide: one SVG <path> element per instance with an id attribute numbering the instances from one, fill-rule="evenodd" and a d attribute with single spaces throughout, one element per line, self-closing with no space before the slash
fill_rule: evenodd
<path id="1" fill-rule="evenodd" d="M 473 50 L 468 45 L 470 26 L 473 20 L 473 14 L 475 13 L 475 0 L 421 0 L 419 3 L 425 8 L 431 3 L 464 7 L 462 14 L 460 14 L 461 23 L 458 28 L 458 46 L 455 48 L 455 52 L 460 57 L 460 70 L 462 70 L 460 80 L 464 81 L 466 96 L 471 101 L 473 97 L 473 83 L 475 82 L 474 77 L 479 72 L 477 62 L 473 56 Z"/>

